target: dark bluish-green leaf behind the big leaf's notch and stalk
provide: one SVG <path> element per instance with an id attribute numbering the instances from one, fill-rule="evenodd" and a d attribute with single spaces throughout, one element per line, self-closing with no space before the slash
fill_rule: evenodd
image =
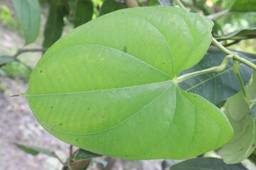
<path id="1" fill-rule="evenodd" d="M 252 60 L 245 55 L 239 55 L 247 60 L 250 60 L 251 62 L 256 62 L 256 60 Z M 181 74 L 196 72 L 202 69 L 218 66 L 223 61 L 224 57 L 225 54 L 223 52 L 210 52 L 203 57 L 201 62 L 190 69 L 186 69 L 185 71 L 181 72 Z M 250 79 L 252 69 L 247 67 L 245 64 L 240 64 L 240 74 L 243 82 L 246 84 Z M 238 78 L 233 72 L 233 60 L 228 62 L 228 66 L 223 72 L 201 74 L 196 77 L 186 79 L 179 85 L 181 86 L 181 89 L 203 96 L 203 98 L 206 98 L 215 105 L 221 101 L 225 101 L 227 98 L 240 91 Z"/>

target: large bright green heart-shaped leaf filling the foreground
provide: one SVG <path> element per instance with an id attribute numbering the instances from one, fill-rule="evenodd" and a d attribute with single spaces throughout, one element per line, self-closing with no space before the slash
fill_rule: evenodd
<path id="1" fill-rule="evenodd" d="M 217 149 L 233 136 L 227 118 L 176 83 L 206 53 L 212 26 L 175 7 L 114 11 L 50 47 L 23 96 L 48 132 L 96 154 L 186 159 Z"/>

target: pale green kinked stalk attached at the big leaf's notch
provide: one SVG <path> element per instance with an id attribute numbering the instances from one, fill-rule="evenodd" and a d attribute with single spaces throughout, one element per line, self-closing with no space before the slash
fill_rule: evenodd
<path id="1" fill-rule="evenodd" d="M 188 74 L 183 74 L 181 77 L 177 77 L 176 81 L 181 82 L 181 81 L 183 81 L 185 79 L 188 79 L 190 77 L 194 77 L 194 76 L 197 76 L 199 74 L 205 74 L 205 73 L 208 73 L 208 72 L 221 72 L 225 69 L 225 67 L 227 67 L 228 60 L 230 60 L 233 57 L 234 57 L 233 54 L 232 55 L 227 55 L 227 56 L 224 57 L 223 62 L 219 66 L 210 67 L 209 69 L 203 69 L 203 70 L 198 71 L 198 72 L 191 72 L 191 73 L 188 73 Z"/>

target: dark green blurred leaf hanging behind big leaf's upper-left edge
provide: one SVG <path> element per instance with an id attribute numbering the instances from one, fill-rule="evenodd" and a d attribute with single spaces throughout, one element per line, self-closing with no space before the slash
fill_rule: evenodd
<path id="1" fill-rule="evenodd" d="M 90 0 L 77 0 L 74 13 L 75 27 L 81 26 L 92 19 L 93 4 Z"/>

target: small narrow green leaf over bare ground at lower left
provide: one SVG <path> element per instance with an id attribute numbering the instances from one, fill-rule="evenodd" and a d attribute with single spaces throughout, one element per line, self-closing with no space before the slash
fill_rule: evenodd
<path id="1" fill-rule="evenodd" d="M 27 152 L 28 154 L 36 155 L 36 154 L 46 154 L 50 157 L 55 157 L 53 152 L 51 152 L 48 149 L 43 149 L 41 147 L 33 147 L 33 146 L 28 146 L 28 145 L 21 145 L 18 143 L 14 143 L 19 149 L 23 150 L 24 152 Z"/>

